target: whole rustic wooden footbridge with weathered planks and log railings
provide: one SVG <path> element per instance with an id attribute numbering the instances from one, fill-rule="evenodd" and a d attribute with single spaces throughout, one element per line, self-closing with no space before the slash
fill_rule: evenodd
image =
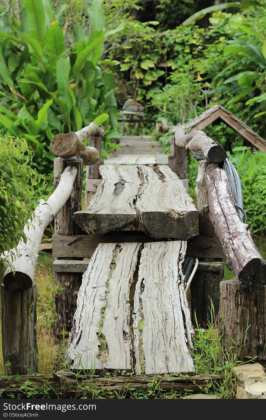
<path id="1" fill-rule="evenodd" d="M 258 317 L 266 312 L 266 264 L 232 202 L 218 164 L 226 157 L 223 148 L 201 131 L 185 135 L 177 126 L 170 156 L 163 155 L 149 136 L 123 136 L 121 149 L 103 162 L 97 152 L 102 136 L 90 124 L 76 133 L 58 134 L 51 143 L 59 156 L 54 161 L 55 195 L 47 203 L 40 201 L 34 220 L 43 226 L 42 232 L 25 227 L 28 241 L 18 245 L 15 275 L 8 269 L 2 285 L 4 360 L 12 361 L 12 371 L 24 373 L 25 365 L 37 371 L 34 269 L 43 230 L 52 218 L 50 213 L 43 218 L 42 206 L 47 204 L 55 215 L 58 327 L 70 331 L 66 360 L 71 369 L 137 375 L 193 372 L 192 325 L 195 312 L 198 323 L 207 325 L 210 298 L 220 333 L 228 331 L 223 335 L 228 349 L 231 338 L 237 341 L 241 336 L 234 331 L 235 322 L 246 328 L 243 302 L 247 316 L 255 308 L 258 316 L 249 318 L 250 335 L 239 357 L 266 358 L 266 324 L 258 325 Z M 89 147 L 82 143 L 86 138 Z M 187 150 L 203 151 L 205 157 L 196 180 L 198 208 L 188 195 Z M 66 199 L 61 199 L 62 191 Z M 5 257 L 11 258 L 10 253 Z M 190 285 L 190 307 L 185 293 L 187 257 L 200 260 Z M 226 299 L 220 302 L 225 257 L 238 280 L 221 282 Z M 15 295 L 24 318 L 11 337 L 10 325 L 21 318 L 11 304 Z M 24 364 L 18 365 L 21 349 L 14 341 L 22 336 L 28 344 Z"/>

